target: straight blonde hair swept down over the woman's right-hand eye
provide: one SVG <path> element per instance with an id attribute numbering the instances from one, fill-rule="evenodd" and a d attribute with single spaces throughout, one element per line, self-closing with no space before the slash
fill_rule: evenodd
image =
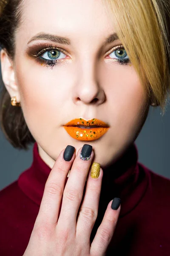
<path id="1" fill-rule="evenodd" d="M 106 2 L 150 102 L 160 105 L 164 115 L 170 90 L 170 0 L 103 0 Z"/>

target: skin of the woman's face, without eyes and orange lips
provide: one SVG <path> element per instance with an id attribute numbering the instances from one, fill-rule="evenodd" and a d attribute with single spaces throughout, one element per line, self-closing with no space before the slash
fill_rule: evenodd
<path id="1" fill-rule="evenodd" d="M 149 108 L 133 66 L 117 62 L 128 59 L 125 50 L 113 49 L 121 41 L 104 45 L 116 32 L 114 23 L 102 0 L 23 3 L 24 22 L 16 33 L 14 59 L 18 94 L 12 90 L 10 94 L 21 102 L 40 156 L 52 168 L 67 145 L 73 145 L 77 153 L 86 143 L 93 146 L 93 161 L 105 169 L 136 139 Z M 35 39 L 42 33 L 50 35 Z M 56 36 L 68 38 L 70 44 L 57 42 Z M 39 58 L 33 56 L 37 52 Z M 77 140 L 63 128 L 76 118 L 100 119 L 110 128 L 98 140 Z"/>

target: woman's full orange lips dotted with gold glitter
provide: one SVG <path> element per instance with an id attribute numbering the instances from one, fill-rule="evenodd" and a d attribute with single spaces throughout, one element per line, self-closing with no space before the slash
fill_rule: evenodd
<path id="1" fill-rule="evenodd" d="M 78 125 L 87 128 L 77 127 Z M 77 118 L 66 123 L 63 127 L 65 128 L 65 131 L 76 140 L 92 141 L 102 137 L 108 131 L 110 126 L 95 118 L 90 120 Z"/>

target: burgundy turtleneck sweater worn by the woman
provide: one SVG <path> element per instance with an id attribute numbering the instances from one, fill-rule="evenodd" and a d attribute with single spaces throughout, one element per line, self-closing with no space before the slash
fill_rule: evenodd
<path id="1" fill-rule="evenodd" d="M 23 256 L 50 171 L 34 143 L 30 168 L 0 191 L 0 256 Z M 170 179 L 139 163 L 134 143 L 104 170 L 91 242 L 114 197 L 121 211 L 107 256 L 170 256 Z"/>

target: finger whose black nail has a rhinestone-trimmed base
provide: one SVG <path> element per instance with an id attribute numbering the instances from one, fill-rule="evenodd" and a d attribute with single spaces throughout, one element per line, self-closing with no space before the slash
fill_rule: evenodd
<path id="1" fill-rule="evenodd" d="M 86 148 L 87 144 L 83 147 Z M 88 170 L 91 165 L 91 161 L 94 157 L 94 151 L 92 147 L 89 147 L 89 160 L 82 160 L 80 158 L 80 152 L 83 151 L 83 147 L 77 152 L 77 156 L 74 160 L 71 168 L 70 176 L 68 177 L 62 198 L 62 207 L 57 222 L 58 230 L 70 229 L 72 232 L 76 231 L 76 219 L 79 205 L 82 201 L 83 190 L 85 186 Z M 74 229 L 73 229 L 74 227 Z"/>

